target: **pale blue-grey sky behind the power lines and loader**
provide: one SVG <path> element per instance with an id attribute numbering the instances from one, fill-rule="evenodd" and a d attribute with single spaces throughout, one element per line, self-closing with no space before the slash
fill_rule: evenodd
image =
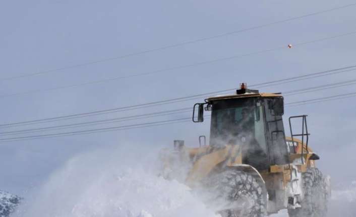
<path id="1" fill-rule="evenodd" d="M 122 56 L 267 24 L 352 4 L 352 1 L 7 1 L 0 7 L 0 78 Z M 276 51 L 153 75 L 33 94 L 1 97 L 0 123 L 90 112 L 102 109 L 238 88 L 356 63 L 355 35 L 286 48 L 287 44 L 356 31 L 356 6 L 212 40 L 127 58 L 0 81 L 0 95 L 45 90 L 179 65 L 283 47 Z M 263 92 L 286 92 L 356 79 L 354 71 L 285 85 Z M 354 86 L 285 97 L 294 102 L 355 92 Z M 202 99 L 203 100 L 203 99 Z M 202 100 L 111 113 L 76 121 L 99 120 L 178 109 Z M 308 114 L 310 145 L 320 153 L 319 166 L 335 183 L 356 179 L 355 101 L 348 98 L 286 107 L 288 116 Z M 191 113 L 151 118 L 140 123 L 189 117 Z M 70 123 L 71 121 L 62 121 Z M 59 122 L 58 122 L 59 123 Z M 52 123 L 55 124 L 55 123 Z M 56 123 L 57 124 L 57 123 Z M 108 124 L 117 126 L 123 123 Z M 36 125 L 36 127 L 44 125 Z M 24 127 L 25 128 L 25 127 Z M 288 129 L 285 125 L 286 130 Z M 19 129 L 19 128 L 14 128 Z M 0 144 L 0 189 L 23 194 L 35 188 L 71 156 L 91 149 L 124 146 L 171 146 L 185 139 L 196 146 L 208 135 L 209 122 Z M 345 169 L 340 170 L 344 166 Z M 350 170 L 347 170 L 350 169 Z"/>

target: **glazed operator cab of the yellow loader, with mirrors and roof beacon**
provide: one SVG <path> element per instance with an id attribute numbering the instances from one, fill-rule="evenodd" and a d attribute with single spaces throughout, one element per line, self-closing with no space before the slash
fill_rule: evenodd
<path id="1" fill-rule="evenodd" d="M 199 105 L 198 120 L 203 121 L 203 106 L 211 110 L 210 146 L 239 145 L 243 164 L 258 170 L 288 164 L 283 128 L 283 97 L 259 93 L 245 84 L 234 95 L 210 97 Z M 200 119 L 199 119 L 199 116 Z"/>

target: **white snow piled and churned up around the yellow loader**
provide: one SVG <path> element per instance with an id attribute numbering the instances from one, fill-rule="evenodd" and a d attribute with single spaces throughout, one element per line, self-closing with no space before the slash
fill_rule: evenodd
<path id="1" fill-rule="evenodd" d="M 218 217 L 185 185 L 157 176 L 145 154 L 77 156 L 26 198 L 15 216 Z M 356 183 L 334 190 L 328 216 L 356 216 Z M 273 217 L 288 216 L 285 210 Z"/>

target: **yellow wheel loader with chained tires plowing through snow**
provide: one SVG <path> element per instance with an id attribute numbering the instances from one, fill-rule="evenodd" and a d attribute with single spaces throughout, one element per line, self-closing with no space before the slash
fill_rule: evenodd
<path id="1" fill-rule="evenodd" d="M 182 177 L 192 189 L 211 195 L 223 217 L 266 216 L 288 209 L 290 217 L 325 216 L 330 178 L 316 168 L 319 156 L 308 146 L 307 115 L 289 117 L 285 136 L 280 93 L 259 93 L 246 84 L 233 95 L 196 103 L 193 122 L 211 111 L 210 139 L 199 148 L 174 140 L 162 150 L 162 175 Z M 294 133 L 295 122 L 302 124 Z"/>

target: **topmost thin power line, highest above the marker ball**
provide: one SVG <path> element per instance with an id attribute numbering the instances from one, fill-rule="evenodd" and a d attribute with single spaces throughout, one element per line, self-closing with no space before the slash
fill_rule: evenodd
<path id="1" fill-rule="evenodd" d="M 247 32 L 247 31 L 251 31 L 251 30 L 256 30 L 256 29 L 260 29 L 260 28 L 264 28 L 264 27 L 268 27 L 268 26 L 273 26 L 273 25 L 276 25 L 276 24 L 286 23 L 286 22 L 293 21 L 293 20 L 298 20 L 298 19 L 302 19 L 302 18 L 306 18 L 306 17 L 316 16 L 316 15 L 319 15 L 319 14 L 324 14 L 324 13 L 328 13 L 328 12 L 332 12 L 332 11 L 336 11 L 336 10 L 340 10 L 340 9 L 353 7 L 355 5 L 356 4 L 348 4 L 348 5 L 344 5 L 344 6 L 340 6 L 340 7 L 327 9 L 327 10 L 324 10 L 324 11 L 319 11 L 319 12 L 314 12 L 314 13 L 310 13 L 310 14 L 306 14 L 306 15 L 302 15 L 302 16 L 292 17 L 292 18 L 285 19 L 285 20 L 279 20 L 279 21 L 275 21 L 275 22 L 271 22 L 271 23 L 267 23 L 267 24 L 262 24 L 262 25 L 257 25 L 257 26 L 253 26 L 253 27 L 249 27 L 249 28 L 245 28 L 245 29 L 226 32 L 226 33 L 222 33 L 222 34 L 219 34 L 219 35 L 199 38 L 199 39 L 195 39 L 195 40 L 185 41 L 185 42 L 171 44 L 171 45 L 158 47 L 158 48 L 153 48 L 153 49 L 147 49 L 147 50 L 143 50 L 143 51 L 139 51 L 139 52 L 124 54 L 122 56 L 110 57 L 110 58 L 106 58 L 106 59 L 89 61 L 89 62 L 70 65 L 70 66 L 65 66 L 65 67 L 61 67 L 61 68 L 55 68 L 55 69 L 40 71 L 38 73 L 31 73 L 31 74 L 26 74 L 26 75 L 3 78 L 3 79 L 0 79 L 0 81 L 7 81 L 7 80 L 18 79 L 18 78 L 25 78 L 25 77 L 30 77 L 30 76 L 43 75 L 43 74 L 54 73 L 56 71 L 61 71 L 61 70 L 65 70 L 65 69 L 77 68 L 77 67 L 81 67 L 81 66 L 85 66 L 85 65 L 96 64 L 96 63 L 100 63 L 100 62 L 123 59 L 123 58 L 131 57 L 131 56 L 141 55 L 141 54 L 145 54 L 145 53 L 151 53 L 151 52 L 165 50 L 165 49 L 174 48 L 174 47 L 179 47 L 179 46 L 183 46 L 183 45 L 187 45 L 187 44 L 193 44 L 193 43 L 207 41 L 207 40 L 211 40 L 211 39 L 215 39 L 215 38 L 225 37 L 225 36 L 228 36 L 228 35 L 238 34 L 238 33 Z"/>

